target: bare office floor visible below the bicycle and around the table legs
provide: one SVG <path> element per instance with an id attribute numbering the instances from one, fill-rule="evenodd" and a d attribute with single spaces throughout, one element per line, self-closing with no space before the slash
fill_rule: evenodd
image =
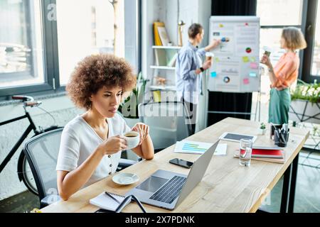
<path id="1" fill-rule="evenodd" d="M 297 189 L 294 204 L 294 212 L 304 213 L 320 212 L 320 153 L 312 153 L 308 159 L 309 152 L 302 151 L 299 156 L 299 167 L 297 176 Z M 318 167 L 318 168 L 316 168 Z M 262 209 L 269 212 L 279 212 L 282 194 L 282 179 L 275 185 L 267 196 Z M 23 213 L 39 208 L 38 197 L 30 192 L 23 192 L 9 199 L 0 201 L 0 212 Z"/>

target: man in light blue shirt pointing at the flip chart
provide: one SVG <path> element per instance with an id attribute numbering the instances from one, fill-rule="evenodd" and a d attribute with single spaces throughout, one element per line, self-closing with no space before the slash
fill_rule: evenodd
<path id="1" fill-rule="evenodd" d="M 178 100 L 188 109 L 187 116 L 191 121 L 192 131 L 196 130 L 196 108 L 199 99 L 199 89 L 201 86 L 202 72 L 211 67 L 211 60 L 202 63 L 201 57 L 206 52 L 216 48 L 221 40 L 213 40 L 206 48 L 198 49 L 198 45 L 203 40 L 204 30 L 198 23 L 193 23 L 188 28 L 188 43 L 178 52 L 176 60 L 176 90 Z"/>

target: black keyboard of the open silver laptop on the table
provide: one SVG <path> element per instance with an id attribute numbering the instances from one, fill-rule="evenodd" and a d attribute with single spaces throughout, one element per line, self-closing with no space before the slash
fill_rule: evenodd
<path id="1" fill-rule="evenodd" d="M 166 182 L 150 199 L 162 201 L 166 204 L 171 204 L 181 192 L 183 184 L 186 182 L 186 177 L 172 177 L 169 182 Z"/>

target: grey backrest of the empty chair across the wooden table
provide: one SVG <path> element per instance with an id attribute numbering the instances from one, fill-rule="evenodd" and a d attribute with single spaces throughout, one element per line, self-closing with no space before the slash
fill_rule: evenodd
<path id="1" fill-rule="evenodd" d="M 186 113 L 181 101 L 139 104 L 140 121 L 149 126 L 155 150 L 168 148 L 189 136 L 191 125 Z"/>

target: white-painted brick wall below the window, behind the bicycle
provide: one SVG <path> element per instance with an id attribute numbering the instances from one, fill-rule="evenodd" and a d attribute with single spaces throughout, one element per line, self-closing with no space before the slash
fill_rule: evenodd
<path id="1" fill-rule="evenodd" d="M 43 99 L 41 101 L 43 101 L 41 108 L 46 109 L 46 111 L 55 117 L 58 126 L 65 126 L 65 124 L 77 114 L 82 113 L 81 110 L 75 108 L 67 96 Z M 36 126 L 46 128 L 53 124 L 53 119 L 48 114 L 43 114 L 43 111 L 38 108 L 32 108 L 29 112 Z M 0 122 L 9 120 L 9 118 L 22 116 L 23 114 L 21 104 L 0 106 Z M 0 127 L 0 162 L 4 160 L 9 150 L 14 146 L 27 126 L 28 120 L 23 119 Z M 29 135 L 29 137 L 31 137 L 31 135 Z M 11 158 L 10 162 L 0 174 L 0 200 L 27 190 L 23 182 L 18 181 L 17 175 L 17 163 L 21 150 L 22 146 L 17 150 L 14 157 Z"/>

